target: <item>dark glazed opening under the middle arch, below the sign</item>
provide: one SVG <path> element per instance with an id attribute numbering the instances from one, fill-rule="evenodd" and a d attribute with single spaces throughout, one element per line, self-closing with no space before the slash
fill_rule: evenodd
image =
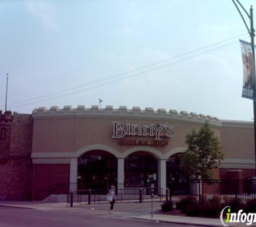
<path id="1" fill-rule="evenodd" d="M 124 187 L 157 187 L 157 159 L 145 151 L 137 151 L 124 159 Z"/>

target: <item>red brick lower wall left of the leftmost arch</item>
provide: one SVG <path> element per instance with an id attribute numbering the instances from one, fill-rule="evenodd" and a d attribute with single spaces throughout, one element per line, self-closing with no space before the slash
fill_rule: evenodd
<path id="1" fill-rule="evenodd" d="M 33 165 L 32 200 L 43 200 L 51 194 L 66 194 L 69 187 L 69 164 Z"/>

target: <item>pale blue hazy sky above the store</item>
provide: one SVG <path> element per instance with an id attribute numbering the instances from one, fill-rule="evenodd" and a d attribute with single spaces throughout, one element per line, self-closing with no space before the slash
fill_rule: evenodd
<path id="1" fill-rule="evenodd" d="M 100 98 L 253 119 L 239 44 L 250 37 L 232 0 L 2 0 L 0 27 L 0 110 L 8 73 L 7 109 L 19 113 Z"/>

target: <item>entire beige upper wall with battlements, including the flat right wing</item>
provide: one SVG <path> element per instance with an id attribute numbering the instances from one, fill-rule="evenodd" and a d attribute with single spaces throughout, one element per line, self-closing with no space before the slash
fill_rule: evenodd
<path id="1" fill-rule="evenodd" d="M 225 154 L 221 168 L 255 168 L 254 139 L 252 122 L 236 122 L 219 120 L 218 118 L 197 115 L 185 111 L 141 110 L 134 107 L 113 109 L 107 106 L 85 108 L 79 106 L 73 109 L 38 108 L 33 111 L 33 144 L 32 158 L 34 164 L 70 163 L 70 158 L 78 158 L 87 151 L 105 150 L 117 158 L 125 158 L 136 151 L 147 151 L 157 159 L 168 159 L 172 154 L 183 152 L 185 136 L 193 129 L 198 130 L 206 120 L 215 135 L 219 138 L 222 151 Z M 175 136 L 163 138 L 168 140 L 168 146 L 138 146 L 120 145 L 118 139 L 113 138 L 113 122 L 126 124 L 150 125 L 163 124 L 174 126 Z M 148 139 L 154 137 L 124 137 L 124 139 Z"/>

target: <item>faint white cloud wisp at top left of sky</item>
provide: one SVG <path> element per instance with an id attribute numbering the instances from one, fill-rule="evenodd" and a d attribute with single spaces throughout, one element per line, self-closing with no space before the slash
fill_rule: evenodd
<path id="1" fill-rule="evenodd" d="M 56 8 L 53 4 L 46 1 L 27 1 L 26 10 L 31 16 L 38 19 L 46 29 L 59 31 L 56 22 Z"/>

